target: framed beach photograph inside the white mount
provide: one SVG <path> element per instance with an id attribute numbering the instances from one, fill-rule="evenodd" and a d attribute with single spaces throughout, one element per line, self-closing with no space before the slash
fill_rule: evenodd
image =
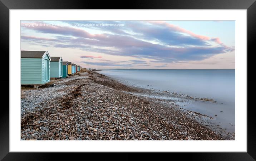
<path id="1" fill-rule="evenodd" d="M 21 20 L 20 141 L 236 140 L 235 22 Z"/>

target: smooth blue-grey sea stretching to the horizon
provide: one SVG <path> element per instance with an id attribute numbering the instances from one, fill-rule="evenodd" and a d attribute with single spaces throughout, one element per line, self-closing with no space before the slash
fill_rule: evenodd
<path id="1" fill-rule="evenodd" d="M 211 122 L 235 132 L 235 70 L 108 69 L 98 73 L 137 87 L 211 98 L 217 103 L 193 101 L 181 106 L 207 114 L 215 118 Z"/>

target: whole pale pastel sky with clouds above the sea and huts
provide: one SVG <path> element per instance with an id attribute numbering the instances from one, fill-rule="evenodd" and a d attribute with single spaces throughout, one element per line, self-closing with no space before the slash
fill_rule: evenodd
<path id="1" fill-rule="evenodd" d="M 21 50 L 82 68 L 235 69 L 235 21 L 21 21 Z"/>

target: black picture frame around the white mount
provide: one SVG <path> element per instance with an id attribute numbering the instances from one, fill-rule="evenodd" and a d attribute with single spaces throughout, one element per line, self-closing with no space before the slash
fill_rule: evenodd
<path id="1" fill-rule="evenodd" d="M 186 153 L 185 154 L 171 154 L 173 158 L 177 157 L 190 160 L 255 160 L 256 159 L 256 137 L 255 125 L 256 119 L 253 113 L 253 106 L 249 106 L 249 102 L 253 100 L 253 94 L 248 92 L 255 91 L 255 79 L 253 75 L 249 75 L 253 71 L 251 58 L 254 55 L 253 47 L 256 39 L 256 2 L 255 0 L 129 0 L 127 2 L 121 1 L 78 1 L 78 0 L 0 0 L 0 44 L 2 46 L 1 56 L 9 62 L 9 10 L 10 9 L 247 9 L 247 152 L 242 153 Z M 253 53 L 253 52 L 254 53 Z M 249 54 L 250 59 L 248 59 Z M 10 72 L 10 71 L 9 71 Z M 252 73 L 252 72 L 251 72 Z M 1 78 L 1 84 L 9 84 L 9 73 Z M 11 84 L 9 84 L 11 86 Z M 9 107 L 9 88 L 2 90 L 4 94 L 1 99 L 6 102 Z M 123 159 L 132 160 L 132 154 L 121 154 Z M 69 153 L 14 153 L 9 152 L 9 108 L 7 106 L 1 107 L 0 112 L 0 160 L 52 160 L 53 156 L 58 159 L 68 159 L 74 157 Z M 144 158 L 152 157 L 152 154 L 144 155 Z M 158 157 L 162 157 L 158 156 Z M 158 159 L 160 159 L 158 158 Z"/>

